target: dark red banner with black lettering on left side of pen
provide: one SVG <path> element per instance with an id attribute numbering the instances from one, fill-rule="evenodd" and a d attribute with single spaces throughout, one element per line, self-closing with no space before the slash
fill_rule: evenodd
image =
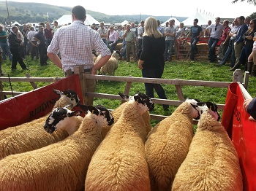
<path id="1" fill-rule="evenodd" d="M 59 95 L 56 90 L 74 90 L 78 93 L 80 103 L 83 104 L 83 94 L 80 88 L 78 74 L 61 79 L 58 82 L 23 93 L 0 102 L 0 130 L 20 125 L 24 122 L 45 116 L 52 111 Z"/>

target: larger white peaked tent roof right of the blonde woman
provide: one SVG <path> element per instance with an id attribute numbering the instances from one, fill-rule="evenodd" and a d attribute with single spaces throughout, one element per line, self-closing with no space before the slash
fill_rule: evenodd
<path id="1" fill-rule="evenodd" d="M 198 26 L 201 25 L 207 25 L 208 20 L 211 20 L 212 23 L 214 23 L 215 18 L 211 15 L 206 15 L 202 12 L 195 12 L 193 15 L 188 17 L 186 20 L 184 20 L 182 23 L 184 23 L 184 26 L 192 26 L 193 25 L 193 20 L 197 18 L 198 19 Z"/>

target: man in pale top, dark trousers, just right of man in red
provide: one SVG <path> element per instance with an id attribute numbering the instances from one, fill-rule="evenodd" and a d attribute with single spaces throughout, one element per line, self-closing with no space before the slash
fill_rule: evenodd
<path id="1" fill-rule="evenodd" d="M 230 56 L 230 67 L 233 68 L 233 66 L 236 63 L 236 57 L 235 57 L 235 49 L 234 49 L 234 42 L 235 42 L 235 37 L 238 32 L 239 26 L 238 26 L 238 18 L 235 18 L 234 21 L 234 26 L 231 28 L 230 33 L 227 36 L 227 39 L 225 41 L 228 41 L 228 47 L 225 52 L 224 58 L 222 58 L 221 61 L 219 61 L 219 65 L 225 65 L 227 62 L 227 59 Z"/>

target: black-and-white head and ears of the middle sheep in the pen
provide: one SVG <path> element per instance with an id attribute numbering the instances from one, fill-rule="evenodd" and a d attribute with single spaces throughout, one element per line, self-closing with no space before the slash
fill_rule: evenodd
<path id="1" fill-rule="evenodd" d="M 142 108 L 146 107 L 146 110 L 148 111 L 152 111 L 154 109 L 154 102 L 151 101 L 151 98 L 144 93 L 138 93 L 133 96 L 124 95 L 123 93 L 118 94 L 125 101 L 136 101 Z"/>

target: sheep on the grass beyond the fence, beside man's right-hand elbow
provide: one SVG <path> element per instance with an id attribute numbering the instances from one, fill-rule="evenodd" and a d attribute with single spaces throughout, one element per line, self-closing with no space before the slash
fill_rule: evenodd
<path id="1" fill-rule="evenodd" d="M 98 55 L 95 59 L 94 63 L 97 63 L 99 59 L 101 58 L 101 55 Z M 117 60 L 117 53 L 114 51 L 108 60 L 107 63 L 105 63 L 104 66 L 102 66 L 99 70 L 99 73 L 102 75 L 109 74 L 109 75 L 115 75 L 115 71 L 118 69 L 118 60 Z"/>

